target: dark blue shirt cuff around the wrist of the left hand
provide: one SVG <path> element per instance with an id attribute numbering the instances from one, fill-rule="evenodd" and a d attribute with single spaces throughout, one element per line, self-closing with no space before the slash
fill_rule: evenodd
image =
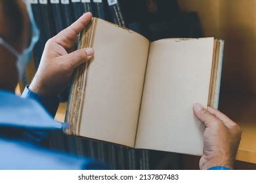
<path id="1" fill-rule="evenodd" d="M 58 97 L 43 97 L 32 92 L 28 86 L 25 87 L 21 97 L 34 99 L 39 102 L 53 117 L 55 116 L 58 110 L 58 105 L 60 104 Z"/>

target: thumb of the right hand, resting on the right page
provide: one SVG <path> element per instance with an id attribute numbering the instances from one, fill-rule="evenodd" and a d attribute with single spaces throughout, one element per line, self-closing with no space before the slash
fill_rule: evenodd
<path id="1" fill-rule="evenodd" d="M 213 125 L 215 122 L 219 122 L 219 119 L 216 118 L 213 114 L 208 112 L 203 106 L 199 103 L 196 103 L 193 107 L 194 109 L 194 114 L 200 120 L 203 122 L 205 127 L 209 127 Z"/>

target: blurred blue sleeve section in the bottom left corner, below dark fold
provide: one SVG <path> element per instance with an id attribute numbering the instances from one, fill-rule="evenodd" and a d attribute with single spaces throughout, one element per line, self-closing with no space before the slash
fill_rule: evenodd
<path id="1" fill-rule="evenodd" d="M 109 169 L 93 159 L 41 148 L 28 142 L 0 138 L 0 148 L 0 169 L 3 170 Z"/>

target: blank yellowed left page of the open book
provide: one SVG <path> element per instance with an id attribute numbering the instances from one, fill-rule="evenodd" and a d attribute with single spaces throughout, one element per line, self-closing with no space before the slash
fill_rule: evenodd
<path id="1" fill-rule="evenodd" d="M 134 147 L 149 44 L 97 19 L 79 135 Z"/>

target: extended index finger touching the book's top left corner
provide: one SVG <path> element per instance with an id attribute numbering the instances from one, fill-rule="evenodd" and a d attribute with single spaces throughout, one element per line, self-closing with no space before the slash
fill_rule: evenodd
<path id="1" fill-rule="evenodd" d="M 90 22 L 92 18 L 91 12 L 83 14 L 77 21 L 66 29 L 60 31 L 53 37 L 54 41 L 63 46 L 64 48 L 70 48 L 77 42 L 77 35 L 83 30 L 83 28 Z"/>

